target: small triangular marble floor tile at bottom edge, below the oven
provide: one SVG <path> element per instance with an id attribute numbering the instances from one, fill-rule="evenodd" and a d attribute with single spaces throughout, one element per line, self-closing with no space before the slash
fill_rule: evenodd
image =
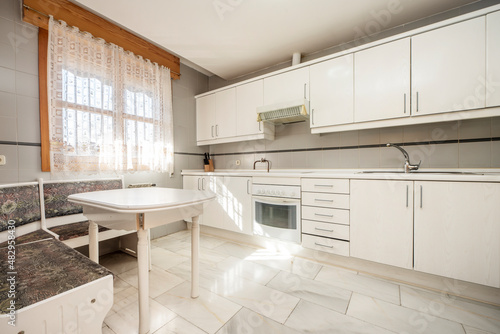
<path id="1" fill-rule="evenodd" d="M 243 307 L 217 334 L 299 334 L 300 332 Z"/>

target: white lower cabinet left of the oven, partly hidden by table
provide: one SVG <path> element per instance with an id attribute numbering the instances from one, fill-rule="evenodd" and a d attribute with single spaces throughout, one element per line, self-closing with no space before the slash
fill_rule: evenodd
<path id="1" fill-rule="evenodd" d="M 184 176 L 183 188 L 211 190 L 216 199 L 204 208 L 200 224 L 252 234 L 250 177 Z"/>

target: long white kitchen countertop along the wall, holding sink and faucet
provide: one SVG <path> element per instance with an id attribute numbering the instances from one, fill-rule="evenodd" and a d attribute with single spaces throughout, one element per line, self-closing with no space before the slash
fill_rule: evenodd
<path id="1" fill-rule="evenodd" d="M 375 173 L 363 173 L 374 171 Z M 452 172 L 452 173 L 447 173 Z M 466 174 L 459 174 L 466 173 Z M 467 174 L 472 173 L 472 174 Z M 500 169 L 421 169 L 404 173 L 402 169 L 220 169 L 204 172 L 201 169 L 183 170 L 182 175 L 192 176 L 247 176 L 247 177 L 299 177 L 299 178 L 339 178 L 366 180 L 415 180 L 415 181 L 464 181 L 500 182 Z"/>

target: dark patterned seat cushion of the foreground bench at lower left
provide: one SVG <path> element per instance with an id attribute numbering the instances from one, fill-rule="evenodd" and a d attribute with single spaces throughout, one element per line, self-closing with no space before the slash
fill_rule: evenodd
<path id="1" fill-rule="evenodd" d="M 0 314 L 8 313 L 10 299 L 7 273 L 7 248 L 0 249 Z M 16 309 L 72 290 L 99 278 L 112 275 L 64 243 L 49 239 L 16 246 Z"/>

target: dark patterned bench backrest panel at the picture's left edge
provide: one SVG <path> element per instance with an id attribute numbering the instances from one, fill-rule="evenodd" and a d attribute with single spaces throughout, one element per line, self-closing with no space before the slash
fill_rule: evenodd
<path id="1" fill-rule="evenodd" d="M 16 227 L 40 220 L 38 184 L 0 187 L 0 232 L 12 220 Z"/>

